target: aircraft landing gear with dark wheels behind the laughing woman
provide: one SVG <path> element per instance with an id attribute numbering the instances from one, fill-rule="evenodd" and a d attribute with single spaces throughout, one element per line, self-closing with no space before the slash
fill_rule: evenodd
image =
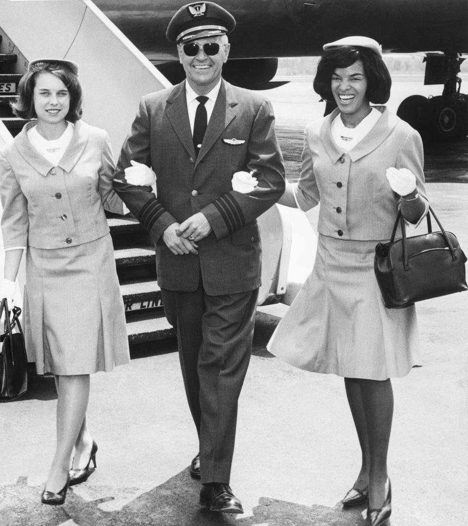
<path id="1" fill-rule="evenodd" d="M 428 54 L 424 84 L 444 84 L 442 95 L 412 95 L 400 104 L 396 114 L 424 138 L 453 140 L 467 135 L 468 96 L 460 93 L 457 76 L 463 60 L 457 54 Z"/>

